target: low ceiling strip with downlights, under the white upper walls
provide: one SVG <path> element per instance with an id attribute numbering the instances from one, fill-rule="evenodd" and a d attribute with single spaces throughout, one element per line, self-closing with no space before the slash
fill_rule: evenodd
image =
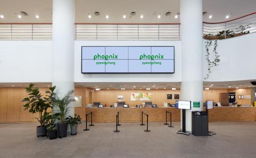
<path id="1" fill-rule="evenodd" d="M 230 82 L 204 82 L 204 88 L 209 89 L 232 89 L 232 88 L 248 88 L 248 87 L 256 87 L 250 84 L 252 80 L 247 81 L 230 81 Z M 0 87 L 28 87 L 30 83 L 0 83 Z M 37 87 L 47 87 L 51 86 L 51 83 L 35 83 Z M 126 86 L 125 86 L 126 85 Z M 211 86 L 213 85 L 213 86 Z M 75 83 L 76 87 L 90 87 L 90 88 L 101 88 L 101 89 L 172 89 L 177 88 L 180 89 L 180 82 L 166 82 L 166 83 Z M 155 86 L 155 87 L 153 87 Z M 230 86 L 230 87 L 228 87 Z"/>

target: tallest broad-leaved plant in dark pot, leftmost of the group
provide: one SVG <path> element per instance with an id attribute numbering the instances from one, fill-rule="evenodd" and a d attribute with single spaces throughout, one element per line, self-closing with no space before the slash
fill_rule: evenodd
<path id="1" fill-rule="evenodd" d="M 43 97 L 39 92 L 38 87 L 33 88 L 34 84 L 30 84 L 29 87 L 26 88 L 26 92 L 29 93 L 29 97 L 24 98 L 22 101 L 27 102 L 23 107 L 25 110 L 29 109 L 30 113 L 38 113 L 39 117 L 36 118 L 40 123 L 39 126 L 36 127 L 36 135 L 37 137 L 45 137 L 47 134 L 46 130 L 46 117 L 48 115 L 47 109 L 51 108 L 52 100 L 54 99 L 54 87 L 50 87 L 48 91 L 46 91 L 47 97 Z"/>

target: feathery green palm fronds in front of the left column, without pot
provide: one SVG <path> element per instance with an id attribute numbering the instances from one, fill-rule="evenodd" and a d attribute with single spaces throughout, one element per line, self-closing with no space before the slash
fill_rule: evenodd
<path id="1" fill-rule="evenodd" d="M 53 105 L 57 108 L 55 110 L 55 113 L 58 113 L 58 116 L 59 116 L 58 119 L 62 123 L 67 121 L 66 115 L 70 109 L 70 107 L 68 107 L 69 104 L 72 101 L 76 101 L 72 96 L 73 93 L 74 93 L 74 90 L 70 90 L 64 97 L 60 98 L 59 96 L 57 96 L 53 101 Z"/>

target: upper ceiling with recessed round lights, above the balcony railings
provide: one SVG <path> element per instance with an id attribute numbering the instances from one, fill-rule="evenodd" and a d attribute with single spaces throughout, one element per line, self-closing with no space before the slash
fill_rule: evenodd
<path id="1" fill-rule="evenodd" d="M 76 22 L 90 23 L 176 23 L 179 18 L 174 16 L 179 12 L 179 0 L 76 0 Z M 204 16 L 204 21 L 218 22 L 226 20 L 225 16 L 230 15 L 229 19 L 243 16 L 256 11 L 255 0 L 203 0 L 203 11 L 208 14 Z M 29 15 L 17 18 L 20 11 L 25 11 Z M 95 16 L 94 12 L 101 13 Z M 130 13 L 135 11 L 135 16 Z M 166 12 L 172 12 L 165 16 Z M 4 22 L 52 22 L 52 0 L 1 0 L 0 14 L 5 18 L 0 18 L 0 23 Z M 92 18 L 88 18 L 88 13 Z M 157 15 L 161 13 L 161 18 Z M 105 15 L 110 16 L 105 19 Z M 126 14 L 126 19 L 123 19 Z M 140 19 L 143 14 L 144 18 Z M 232 15 L 231 15 L 232 14 Z M 39 19 L 35 18 L 39 15 Z M 212 15 L 209 19 L 208 16 Z M 63 15 L 65 16 L 65 15 Z"/>

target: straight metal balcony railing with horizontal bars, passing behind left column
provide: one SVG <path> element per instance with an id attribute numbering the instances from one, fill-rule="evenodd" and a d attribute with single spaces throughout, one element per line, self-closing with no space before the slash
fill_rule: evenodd
<path id="1" fill-rule="evenodd" d="M 0 40 L 51 39 L 51 23 L 0 23 Z M 180 40 L 180 24 L 76 23 L 75 40 Z"/>

